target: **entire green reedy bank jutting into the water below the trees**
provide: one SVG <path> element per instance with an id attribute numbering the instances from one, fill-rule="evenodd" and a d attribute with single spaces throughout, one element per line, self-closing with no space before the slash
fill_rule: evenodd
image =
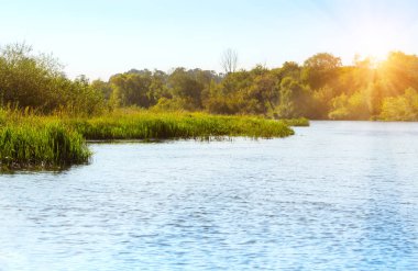
<path id="1" fill-rule="evenodd" d="M 84 163 L 91 156 L 86 139 L 272 138 L 293 135 L 289 124 L 254 116 L 139 110 L 120 110 L 96 117 L 0 111 L 0 168 L 62 168 Z"/>

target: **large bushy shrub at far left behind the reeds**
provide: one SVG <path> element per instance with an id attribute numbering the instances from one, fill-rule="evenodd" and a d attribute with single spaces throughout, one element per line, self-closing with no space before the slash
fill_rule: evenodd
<path id="1" fill-rule="evenodd" d="M 105 100 L 85 77 L 69 80 L 56 59 L 16 44 L 0 50 L 0 103 L 43 113 L 92 114 L 102 110 Z"/>

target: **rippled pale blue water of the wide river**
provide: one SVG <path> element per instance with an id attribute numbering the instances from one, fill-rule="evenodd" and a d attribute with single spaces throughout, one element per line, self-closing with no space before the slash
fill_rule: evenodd
<path id="1" fill-rule="evenodd" d="M 97 144 L 0 176 L 0 270 L 418 270 L 418 124 Z"/>

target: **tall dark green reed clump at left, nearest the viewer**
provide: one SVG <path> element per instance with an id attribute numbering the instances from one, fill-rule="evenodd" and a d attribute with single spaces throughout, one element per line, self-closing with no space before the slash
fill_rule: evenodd
<path id="1" fill-rule="evenodd" d="M 0 128 L 0 168 L 58 169 L 87 162 L 85 139 L 61 123 L 9 123 Z"/>

